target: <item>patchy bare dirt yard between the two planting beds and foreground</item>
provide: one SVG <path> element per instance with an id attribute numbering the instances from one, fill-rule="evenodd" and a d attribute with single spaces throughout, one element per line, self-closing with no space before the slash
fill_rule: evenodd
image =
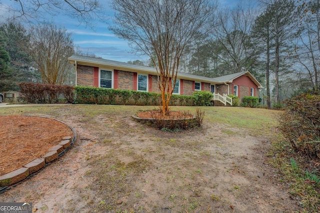
<path id="1" fill-rule="evenodd" d="M 39 213 L 302 210 L 266 163 L 269 138 L 207 121 L 198 130 L 163 132 L 134 122 L 128 112 L 83 113 L 74 106 L 46 116 L 72 126 L 76 142 L 0 194 L 1 202 L 32 202 Z"/>

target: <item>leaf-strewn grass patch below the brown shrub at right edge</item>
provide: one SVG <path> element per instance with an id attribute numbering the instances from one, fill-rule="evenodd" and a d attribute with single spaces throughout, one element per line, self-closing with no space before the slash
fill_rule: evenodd
<path id="1" fill-rule="evenodd" d="M 308 172 L 305 167 L 310 165 L 309 159 L 303 159 L 294 153 L 283 138 L 278 137 L 273 142 L 268 155 L 269 164 L 280 171 L 279 182 L 290 187 L 289 193 L 293 199 L 299 200 L 304 213 L 320 211 L 320 183 L 316 171 Z M 305 157 L 305 156 L 304 156 Z"/>

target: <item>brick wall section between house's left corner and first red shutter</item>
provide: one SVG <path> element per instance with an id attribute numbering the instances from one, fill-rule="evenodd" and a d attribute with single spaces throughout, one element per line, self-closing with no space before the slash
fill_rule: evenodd
<path id="1" fill-rule="evenodd" d="M 93 66 L 78 64 L 76 70 L 76 85 L 93 86 Z"/>

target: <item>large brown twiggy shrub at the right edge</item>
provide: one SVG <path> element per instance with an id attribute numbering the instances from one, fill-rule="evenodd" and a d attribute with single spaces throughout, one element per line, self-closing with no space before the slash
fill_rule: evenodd
<path id="1" fill-rule="evenodd" d="M 302 94 L 284 103 L 279 130 L 296 152 L 320 158 L 320 95 Z"/>

